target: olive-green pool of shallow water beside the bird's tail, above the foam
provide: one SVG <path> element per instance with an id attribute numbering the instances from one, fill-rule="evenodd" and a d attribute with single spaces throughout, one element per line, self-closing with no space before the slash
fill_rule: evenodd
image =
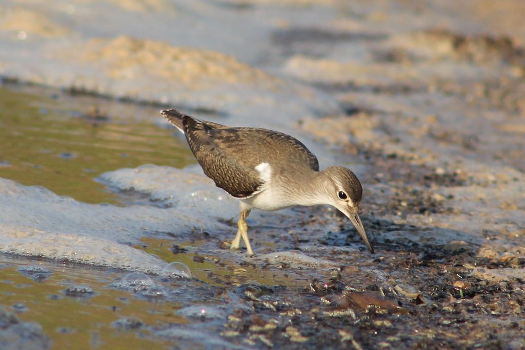
<path id="1" fill-rule="evenodd" d="M 119 202 L 96 181 L 103 172 L 144 163 L 182 168 L 195 162 L 173 130 L 152 123 L 160 108 L 9 85 L 0 87 L 0 105 L 0 177 L 78 201 Z"/>

